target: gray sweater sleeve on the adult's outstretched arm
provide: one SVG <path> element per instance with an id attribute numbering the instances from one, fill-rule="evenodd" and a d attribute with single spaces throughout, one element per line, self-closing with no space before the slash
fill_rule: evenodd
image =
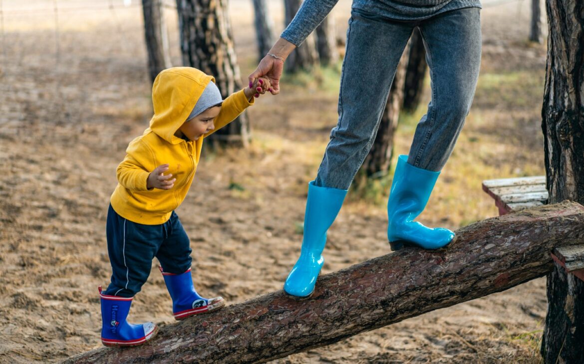
<path id="1" fill-rule="evenodd" d="M 280 37 L 296 47 L 315 30 L 339 0 L 304 0 L 300 9 Z"/>

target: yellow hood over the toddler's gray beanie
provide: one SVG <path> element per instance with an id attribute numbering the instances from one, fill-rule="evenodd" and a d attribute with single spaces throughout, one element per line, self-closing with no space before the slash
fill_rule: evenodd
<path id="1" fill-rule="evenodd" d="M 174 134 L 189 117 L 209 82 L 215 82 L 213 76 L 196 68 L 173 67 L 160 72 L 152 85 L 154 116 L 150 129 L 169 143 L 180 143 L 182 139 Z"/>

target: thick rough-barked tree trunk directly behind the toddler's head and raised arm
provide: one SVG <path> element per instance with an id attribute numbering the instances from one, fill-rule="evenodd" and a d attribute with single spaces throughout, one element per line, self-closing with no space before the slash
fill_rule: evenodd
<path id="1" fill-rule="evenodd" d="M 183 64 L 214 76 L 224 99 L 241 90 L 227 0 L 176 0 L 176 9 Z M 248 146 L 249 121 L 245 111 L 209 139 Z"/>

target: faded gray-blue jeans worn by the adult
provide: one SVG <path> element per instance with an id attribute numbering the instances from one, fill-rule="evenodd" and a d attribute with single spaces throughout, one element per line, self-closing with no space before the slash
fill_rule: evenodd
<path id="1" fill-rule="evenodd" d="M 340 80 L 339 122 L 315 184 L 347 190 L 375 140 L 399 58 L 419 27 L 430 68 L 432 101 L 418 123 L 408 163 L 442 169 L 470 110 L 481 64 L 480 9 L 465 8 L 415 22 L 353 9 Z"/>

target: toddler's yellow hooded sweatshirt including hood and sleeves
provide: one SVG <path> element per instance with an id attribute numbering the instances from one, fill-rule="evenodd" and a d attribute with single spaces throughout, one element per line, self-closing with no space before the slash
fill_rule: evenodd
<path id="1" fill-rule="evenodd" d="M 197 141 L 187 142 L 176 137 L 175 132 L 186 121 L 209 82 L 215 79 L 190 67 L 165 69 L 155 79 L 152 86 L 154 117 L 150 127 L 130 142 L 126 157 L 117 167 L 119 184 L 110 202 L 123 218 L 145 225 L 165 223 L 189 191 L 204 137 L 229 124 L 253 104 L 253 99 L 248 101 L 244 90 L 240 90 L 223 101 L 213 131 Z M 148 175 L 166 163 L 169 170 L 165 174 L 172 173 L 176 178 L 174 186 L 170 190 L 148 190 Z"/>

